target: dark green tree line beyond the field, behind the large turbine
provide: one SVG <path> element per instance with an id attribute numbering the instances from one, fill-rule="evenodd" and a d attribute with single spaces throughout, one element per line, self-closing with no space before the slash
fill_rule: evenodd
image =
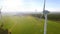
<path id="1" fill-rule="evenodd" d="M 37 17 L 40 18 L 42 16 L 42 14 L 31 14 L 33 17 Z M 44 19 L 44 16 L 42 16 L 42 18 Z M 48 14 L 48 20 L 54 20 L 54 21 L 60 21 L 60 14 L 56 13 L 56 14 Z"/>

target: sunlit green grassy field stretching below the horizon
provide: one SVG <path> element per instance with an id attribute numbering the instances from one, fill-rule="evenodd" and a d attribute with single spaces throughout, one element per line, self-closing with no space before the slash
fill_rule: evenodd
<path id="1" fill-rule="evenodd" d="M 32 16 L 4 16 L 4 29 L 12 34 L 43 34 L 44 19 Z M 48 20 L 47 34 L 60 34 L 60 23 Z"/>

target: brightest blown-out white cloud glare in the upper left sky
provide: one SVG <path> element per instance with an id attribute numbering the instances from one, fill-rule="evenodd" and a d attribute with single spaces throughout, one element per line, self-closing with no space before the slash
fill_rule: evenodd
<path id="1" fill-rule="evenodd" d="M 14 11 L 21 8 L 23 5 L 22 0 L 5 0 L 3 3 L 3 11 Z"/>

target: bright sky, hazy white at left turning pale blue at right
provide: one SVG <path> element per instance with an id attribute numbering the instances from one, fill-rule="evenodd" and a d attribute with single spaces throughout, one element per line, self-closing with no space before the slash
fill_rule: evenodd
<path id="1" fill-rule="evenodd" d="M 2 12 L 43 10 L 44 0 L 0 0 Z M 46 0 L 46 10 L 60 11 L 60 0 Z"/>

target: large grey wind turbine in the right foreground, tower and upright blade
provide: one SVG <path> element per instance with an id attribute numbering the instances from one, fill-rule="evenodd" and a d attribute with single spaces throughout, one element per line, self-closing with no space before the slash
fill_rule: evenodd
<path id="1" fill-rule="evenodd" d="M 43 15 L 45 18 L 45 23 L 44 23 L 44 34 L 47 34 L 47 15 L 49 13 L 48 10 L 45 10 L 45 5 L 46 5 L 46 0 L 44 0 L 44 6 L 43 6 Z"/>

